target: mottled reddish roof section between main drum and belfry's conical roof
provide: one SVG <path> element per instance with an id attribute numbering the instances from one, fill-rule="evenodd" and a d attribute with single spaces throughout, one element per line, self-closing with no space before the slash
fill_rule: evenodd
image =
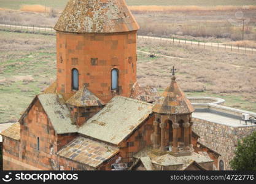
<path id="1" fill-rule="evenodd" d="M 141 87 L 138 82 L 134 83 L 130 98 L 144 102 L 155 102 L 160 97 L 157 88 L 150 86 Z"/>

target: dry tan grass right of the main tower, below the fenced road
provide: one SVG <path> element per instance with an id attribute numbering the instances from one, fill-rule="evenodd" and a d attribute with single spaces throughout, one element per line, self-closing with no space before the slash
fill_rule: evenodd
<path id="1" fill-rule="evenodd" d="M 139 61 L 142 58 L 144 61 L 138 63 L 138 80 L 143 86 L 165 88 L 170 82 L 170 69 L 176 66 L 177 80 L 185 92 L 239 94 L 244 98 L 251 96 L 255 101 L 255 55 L 204 50 L 147 39 L 139 39 L 139 50 L 176 57 L 149 59 L 139 54 Z"/>

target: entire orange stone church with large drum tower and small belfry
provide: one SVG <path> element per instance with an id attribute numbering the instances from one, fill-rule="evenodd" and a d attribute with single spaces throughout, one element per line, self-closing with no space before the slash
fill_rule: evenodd
<path id="1" fill-rule="evenodd" d="M 56 23 L 56 82 L 1 133 L 4 170 L 213 170 L 176 82 L 137 82 L 136 20 L 124 0 L 70 0 Z"/>

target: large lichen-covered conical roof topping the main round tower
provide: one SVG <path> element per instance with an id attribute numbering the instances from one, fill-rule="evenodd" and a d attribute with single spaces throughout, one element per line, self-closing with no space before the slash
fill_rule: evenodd
<path id="1" fill-rule="evenodd" d="M 69 0 L 56 31 L 118 33 L 136 31 L 138 23 L 124 0 Z"/>

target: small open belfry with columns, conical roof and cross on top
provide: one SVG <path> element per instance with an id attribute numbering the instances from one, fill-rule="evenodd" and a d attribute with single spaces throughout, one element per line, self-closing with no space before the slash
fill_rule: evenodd
<path id="1" fill-rule="evenodd" d="M 192 147 L 192 104 L 176 82 L 175 71 L 171 85 L 161 94 L 153 106 L 153 150 L 171 153 L 174 156 L 191 155 Z"/>

